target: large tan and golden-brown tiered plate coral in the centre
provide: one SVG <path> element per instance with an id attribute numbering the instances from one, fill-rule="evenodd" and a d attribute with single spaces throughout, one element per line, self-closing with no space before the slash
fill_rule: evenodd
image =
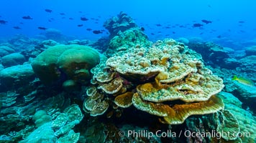
<path id="1" fill-rule="evenodd" d="M 102 102 L 113 109 L 133 104 L 160 117 L 165 124 L 181 124 L 193 114 L 210 114 L 224 108 L 222 100 L 215 96 L 224 88 L 222 79 L 206 69 L 194 51 L 173 39 L 118 51 L 91 72 L 95 87 L 87 90 L 84 109 L 92 116 L 100 115 L 92 111 Z M 101 98 L 92 99 L 92 93 L 101 94 Z M 101 114 L 107 112 L 104 107 Z"/>

